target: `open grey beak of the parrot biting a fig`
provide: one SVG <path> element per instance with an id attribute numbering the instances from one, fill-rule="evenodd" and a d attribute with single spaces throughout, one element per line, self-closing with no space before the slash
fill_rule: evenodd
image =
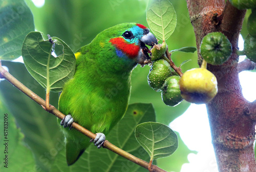
<path id="1" fill-rule="evenodd" d="M 146 45 L 153 47 L 158 44 L 157 38 L 148 30 L 144 29 L 144 35 L 140 39 L 140 48 L 139 57 L 137 59 L 138 63 L 143 67 L 151 62 L 151 58 L 148 53 L 151 53 Z"/>

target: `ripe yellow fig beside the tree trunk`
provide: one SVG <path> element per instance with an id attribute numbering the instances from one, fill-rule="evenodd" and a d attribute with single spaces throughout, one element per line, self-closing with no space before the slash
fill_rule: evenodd
<path id="1" fill-rule="evenodd" d="M 217 79 L 204 68 L 186 71 L 179 81 L 181 97 L 196 104 L 209 102 L 218 92 Z"/>

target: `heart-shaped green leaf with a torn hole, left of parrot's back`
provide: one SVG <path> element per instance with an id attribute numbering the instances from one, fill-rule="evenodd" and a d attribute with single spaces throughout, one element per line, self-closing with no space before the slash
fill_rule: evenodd
<path id="1" fill-rule="evenodd" d="M 55 43 L 55 49 L 58 49 L 58 52 L 55 50 L 57 57 L 51 53 L 52 44 L 49 40 L 44 40 L 40 32 L 30 32 L 24 40 L 22 56 L 29 73 L 42 87 L 47 88 L 49 78 L 51 91 L 60 92 L 65 82 L 75 73 L 76 59 L 65 42 L 57 37 L 52 37 L 52 40 Z"/>

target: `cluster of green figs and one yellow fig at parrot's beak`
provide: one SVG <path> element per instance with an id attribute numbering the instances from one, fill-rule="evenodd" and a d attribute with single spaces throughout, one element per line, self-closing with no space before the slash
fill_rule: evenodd
<path id="1" fill-rule="evenodd" d="M 206 69 L 206 66 L 207 63 L 222 65 L 231 55 L 232 47 L 224 34 L 211 32 L 204 36 L 200 47 L 200 54 L 204 58 L 201 67 L 190 69 L 181 77 L 167 62 L 166 49 L 165 42 L 152 48 L 153 65 L 147 77 L 150 87 L 157 92 L 162 92 L 162 100 L 166 105 L 175 106 L 183 99 L 202 104 L 216 96 L 217 79 Z"/>

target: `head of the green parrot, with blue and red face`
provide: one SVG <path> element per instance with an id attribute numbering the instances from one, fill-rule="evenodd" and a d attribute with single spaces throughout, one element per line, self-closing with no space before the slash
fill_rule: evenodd
<path id="1" fill-rule="evenodd" d="M 134 68 L 138 63 L 143 66 L 150 62 L 150 50 L 158 44 L 156 37 L 148 28 L 137 23 L 123 23 L 105 29 L 91 42 L 91 46 L 99 47 L 100 59 L 115 64 L 115 70 Z M 104 63 L 107 65 L 108 63 Z M 110 67 L 108 67 L 110 68 Z"/>

